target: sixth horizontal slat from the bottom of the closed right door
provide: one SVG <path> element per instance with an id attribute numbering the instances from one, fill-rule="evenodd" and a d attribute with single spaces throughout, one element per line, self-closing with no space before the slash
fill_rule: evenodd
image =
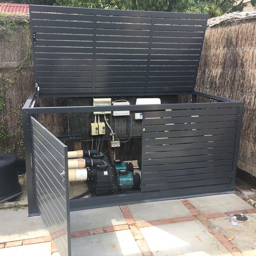
<path id="1" fill-rule="evenodd" d="M 143 159 L 155 159 L 155 158 L 171 158 L 171 157 L 186 157 L 192 155 L 207 155 L 207 154 L 226 154 L 233 152 L 232 147 L 223 147 L 215 149 L 191 149 L 191 150 L 181 150 L 181 151 L 162 151 L 162 152 L 152 152 L 143 154 Z"/>

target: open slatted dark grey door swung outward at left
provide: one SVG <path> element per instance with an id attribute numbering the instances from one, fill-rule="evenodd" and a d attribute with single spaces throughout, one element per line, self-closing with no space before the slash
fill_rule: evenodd
<path id="1" fill-rule="evenodd" d="M 61 256 L 71 255 L 67 146 L 31 117 L 35 196 Z"/>

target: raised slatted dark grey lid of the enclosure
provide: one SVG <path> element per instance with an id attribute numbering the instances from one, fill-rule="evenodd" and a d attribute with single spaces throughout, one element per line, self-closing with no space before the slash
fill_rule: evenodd
<path id="1" fill-rule="evenodd" d="M 207 17 L 31 5 L 39 96 L 192 92 Z"/>

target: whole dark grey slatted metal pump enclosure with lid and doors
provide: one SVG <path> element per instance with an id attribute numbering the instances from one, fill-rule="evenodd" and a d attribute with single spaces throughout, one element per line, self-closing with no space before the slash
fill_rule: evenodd
<path id="1" fill-rule="evenodd" d="M 22 110 L 29 215 L 42 216 L 61 256 L 71 255 L 70 210 L 234 192 L 243 103 L 194 91 L 206 14 L 30 6 L 30 21 L 38 87 Z M 38 105 L 182 94 L 191 102 Z M 70 201 L 67 146 L 37 115 L 128 110 L 143 112 L 141 190 Z"/>

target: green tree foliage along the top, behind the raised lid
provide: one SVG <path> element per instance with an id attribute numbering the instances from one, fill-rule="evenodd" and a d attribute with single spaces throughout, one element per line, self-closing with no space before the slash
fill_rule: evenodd
<path id="1" fill-rule="evenodd" d="M 12 0 L 13 3 L 33 5 L 59 5 L 69 7 L 106 8 L 121 10 L 175 11 L 180 13 L 208 13 L 209 17 L 232 11 L 242 11 L 245 0 Z M 3 2 L 10 2 L 4 0 Z M 251 0 L 255 7 L 256 0 Z"/>

